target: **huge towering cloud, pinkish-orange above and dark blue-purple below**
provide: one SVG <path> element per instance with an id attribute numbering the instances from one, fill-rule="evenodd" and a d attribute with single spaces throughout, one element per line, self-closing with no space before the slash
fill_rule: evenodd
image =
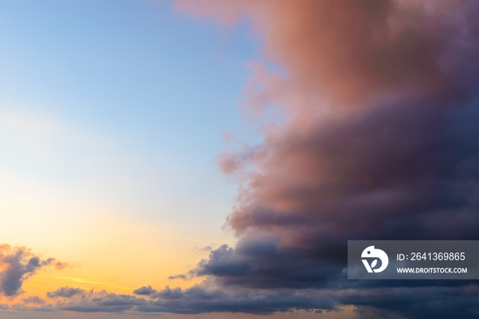
<path id="1" fill-rule="evenodd" d="M 264 50 L 248 109 L 273 105 L 288 119 L 261 144 L 221 155 L 243 186 L 226 220 L 238 242 L 172 278 L 314 290 L 364 318 L 475 318 L 470 281 L 348 281 L 345 270 L 347 240 L 479 239 L 478 3 L 176 6 L 230 27 L 249 19 Z M 268 73 L 270 62 L 284 72 Z"/>

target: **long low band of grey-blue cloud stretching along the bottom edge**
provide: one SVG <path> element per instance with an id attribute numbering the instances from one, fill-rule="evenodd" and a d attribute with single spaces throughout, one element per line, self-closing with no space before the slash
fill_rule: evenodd
<path id="1" fill-rule="evenodd" d="M 144 289 L 146 288 L 146 289 Z M 59 298 L 54 305 L 34 307 L 39 311 L 76 311 L 83 313 L 110 312 L 144 314 L 151 312 L 173 314 L 203 314 L 211 312 L 241 312 L 246 314 L 274 314 L 285 311 L 344 311 L 341 304 L 354 304 L 360 318 L 404 318 L 404 306 L 411 307 L 412 318 L 448 318 L 444 311 L 456 311 L 458 318 L 474 318 L 475 296 L 478 285 L 467 285 L 471 294 L 464 296 L 464 287 L 413 287 L 413 288 L 348 288 L 289 289 L 221 287 L 211 280 L 190 288 L 156 290 L 144 286 L 138 290 L 152 292 L 150 298 L 139 298 L 128 294 L 115 294 L 102 290 L 82 290 L 77 294 Z M 61 291 L 70 288 L 60 288 Z M 136 290 L 136 291 L 138 291 Z M 447 301 L 437 305 L 437 298 L 447 295 Z M 370 307 L 370 303 L 376 307 Z M 23 305 L 18 307 L 29 309 Z M 380 309 L 384 308 L 384 309 Z M 32 308 L 33 309 L 33 308 Z M 408 317 L 411 318 L 411 317 Z"/>

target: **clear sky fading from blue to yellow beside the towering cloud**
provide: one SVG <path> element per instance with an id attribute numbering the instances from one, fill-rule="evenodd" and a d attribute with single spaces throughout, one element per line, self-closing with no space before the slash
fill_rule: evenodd
<path id="1" fill-rule="evenodd" d="M 79 285 L 41 276 L 164 285 L 202 257 L 194 247 L 231 241 L 235 185 L 216 157 L 246 125 L 246 27 L 154 1 L 6 1 L 0 14 L 1 237 L 78 264 L 30 290 Z"/>

